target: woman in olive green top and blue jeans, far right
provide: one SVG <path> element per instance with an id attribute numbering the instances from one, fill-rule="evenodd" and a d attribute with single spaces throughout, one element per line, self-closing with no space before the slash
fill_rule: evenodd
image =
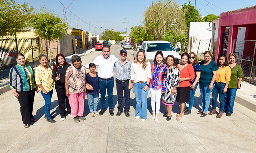
<path id="1" fill-rule="evenodd" d="M 229 54 L 229 66 L 231 67 L 231 81 L 227 86 L 227 94 L 225 96 L 224 110 L 226 116 L 231 116 L 233 113 L 233 107 L 237 89 L 241 88 L 241 82 L 244 81 L 244 74 L 240 65 L 236 63 L 237 56 L 234 53 Z"/>

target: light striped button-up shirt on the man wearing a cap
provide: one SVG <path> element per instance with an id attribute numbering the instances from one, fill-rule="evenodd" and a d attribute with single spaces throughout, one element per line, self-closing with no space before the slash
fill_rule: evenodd
<path id="1" fill-rule="evenodd" d="M 120 81 L 131 79 L 131 65 L 132 62 L 127 59 L 123 65 L 121 59 L 118 59 L 114 65 L 116 67 L 116 79 Z"/>

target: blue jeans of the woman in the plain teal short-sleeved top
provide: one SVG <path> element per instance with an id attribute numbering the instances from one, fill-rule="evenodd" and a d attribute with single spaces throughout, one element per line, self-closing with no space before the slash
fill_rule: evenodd
<path id="1" fill-rule="evenodd" d="M 212 85 L 212 86 L 214 86 L 214 85 Z M 208 89 L 208 86 L 199 85 L 199 89 L 200 89 L 201 99 L 202 99 L 202 110 L 204 111 L 204 113 L 207 113 L 209 105 L 210 105 L 210 94 L 211 94 L 213 87 L 210 90 L 210 89 Z"/>

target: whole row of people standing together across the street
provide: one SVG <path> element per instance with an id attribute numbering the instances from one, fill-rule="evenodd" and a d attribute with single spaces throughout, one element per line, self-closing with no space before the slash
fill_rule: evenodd
<path id="1" fill-rule="evenodd" d="M 183 115 L 191 114 L 194 95 L 199 84 L 202 110 L 197 111 L 200 117 L 205 117 L 210 105 L 212 91 L 212 110 L 209 115 L 217 113 L 216 104 L 219 95 L 220 108 L 217 118 L 223 112 L 227 116 L 233 113 L 236 90 L 241 88 L 243 79 L 242 69 L 236 64 L 236 54 L 219 55 L 217 63 L 211 60 L 211 52 L 204 52 L 204 60 L 198 64 L 196 54 L 183 53 L 181 63 L 175 64 L 172 55 L 163 61 L 162 51 L 155 54 L 154 62 L 146 60 L 146 54 L 139 50 L 134 62 L 127 59 L 127 51 L 120 51 L 120 59 L 110 54 L 110 47 L 102 47 L 102 55 L 95 58 L 92 63 L 82 65 L 80 56 L 74 55 L 71 64 L 66 62 L 63 54 L 57 54 L 56 64 L 49 66 L 46 55 L 39 56 L 39 66 L 33 68 L 26 64 L 25 56 L 16 56 L 17 65 L 10 70 L 10 88 L 20 103 L 20 112 L 24 127 L 37 121 L 33 117 L 33 104 L 35 91 L 41 92 L 45 101 L 46 121 L 54 123 L 55 116 L 50 115 L 51 98 L 55 87 L 60 109 L 60 119 L 65 120 L 66 114 L 74 117 L 74 122 L 85 120 L 84 99 L 87 95 L 91 117 L 103 115 L 109 107 L 109 114 L 114 115 L 113 87 L 114 67 L 116 67 L 117 90 L 117 116 L 123 111 L 129 117 L 130 90 L 134 89 L 136 98 L 135 119 L 144 121 L 147 118 L 147 95 L 151 94 L 152 119 L 158 122 L 161 102 L 166 108 L 167 121 L 170 121 L 172 107 L 177 101 L 180 113 L 176 120 Z M 98 66 L 98 72 L 95 71 Z M 86 69 L 90 71 L 86 73 Z M 106 106 L 106 91 L 108 93 L 108 106 Z M 101 111 L 97 111 L 100 93 Z M 123 107 L 123 96 L 125 104 Z M 186 106 L 189 102 L 189 107 Z M 66 110 L 66 109 L 67 110 Z"/>

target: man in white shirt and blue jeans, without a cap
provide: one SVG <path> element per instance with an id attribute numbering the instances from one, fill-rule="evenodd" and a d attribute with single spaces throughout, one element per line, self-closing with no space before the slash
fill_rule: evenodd
<path id="1" fill-rule="evenodd" d="M 103 115 L 106 111 L 106 90 L 108 92 L 108 106 L 109 114 L 114 115 L 113 112 L 113 87 L 114 87 L 114 64 L 118 58 L 110 54 L 110 47 L 102 47 L 102 55 L 97 56 L 93 63 L 98 66 L 99 90 L 101 93 L 101 111 L 99 115 Z M 89 64 L 85 66 L 89 68 Z"/>

